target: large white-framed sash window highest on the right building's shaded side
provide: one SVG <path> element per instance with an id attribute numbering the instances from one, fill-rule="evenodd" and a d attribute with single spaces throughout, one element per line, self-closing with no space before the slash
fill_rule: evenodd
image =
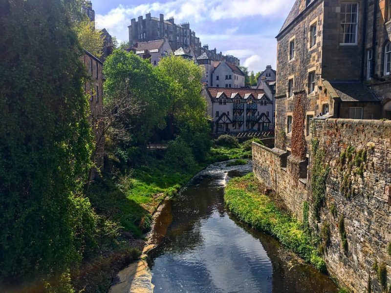
<path id="1" fill-rule="evenodd" d="M 357 44 L 358 3 L 341 3 L 341 44 Z"/>

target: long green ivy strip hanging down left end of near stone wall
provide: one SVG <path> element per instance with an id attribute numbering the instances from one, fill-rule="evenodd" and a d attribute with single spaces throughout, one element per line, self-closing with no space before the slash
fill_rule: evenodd
<path id="1" fill-rule="evenodd" d="M 325 151 L 319 147 L 318 140 L 312 140 L 312 155 L 313 155 L 313 167 L 312 167 L 312 208 L 315 218 L 320 220 L 320 209 L 325 200 L 326 192 L 326 179 L 329 172 L 329 167 L 325 166 Z"/>

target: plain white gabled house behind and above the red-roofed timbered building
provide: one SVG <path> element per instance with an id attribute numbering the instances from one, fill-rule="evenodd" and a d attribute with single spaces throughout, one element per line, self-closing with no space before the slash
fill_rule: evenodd
<path id="1" fill-rule="evenodd" d="M 212 72 L 211 86 L 233 88 L 243 87 L 244 73 L 235 64 L 221 61 Z"/>

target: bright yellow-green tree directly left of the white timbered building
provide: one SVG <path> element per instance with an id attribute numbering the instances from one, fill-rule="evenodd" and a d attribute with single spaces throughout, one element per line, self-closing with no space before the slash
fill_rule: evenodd
<path id="1" fill-rule="evenodd" d="M 190 60 L 169 56 L 160 60 L 156 70 L 169 78 L 174 88 L 168 120 L 192 148 L 195 159 L 201 161 L 211 146 L 206 101 L 201 95 L 202 67 Z"/>

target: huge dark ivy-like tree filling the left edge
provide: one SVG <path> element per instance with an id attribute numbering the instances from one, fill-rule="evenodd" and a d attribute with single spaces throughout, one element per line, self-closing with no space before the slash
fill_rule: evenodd
<path id="1" fill-rule="evenodd" d="M 77 6 L 0 2 L 0 281 L 64 272 L 95 245 Z"/>

